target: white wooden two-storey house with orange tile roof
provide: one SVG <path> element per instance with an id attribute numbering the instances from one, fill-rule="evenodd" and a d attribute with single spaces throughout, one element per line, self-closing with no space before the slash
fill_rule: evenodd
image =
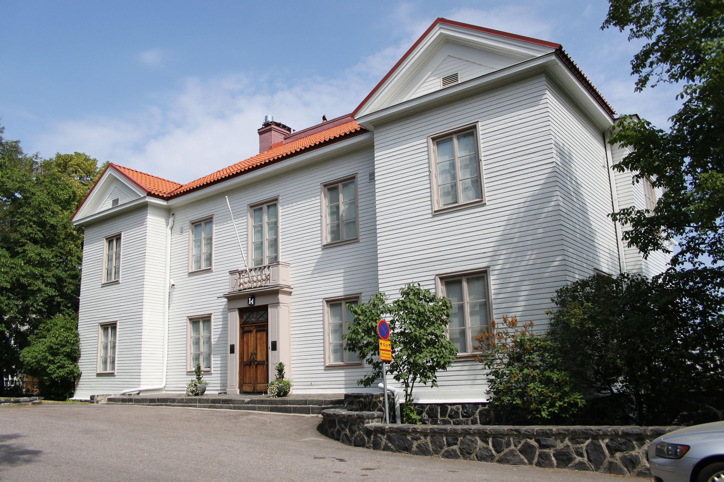
<path id="1" fill-rule="evenodd" d="M 615 116 L 557 43 L 438 19 L 348 116 L 266 119 L 260 154 L 188 184 L 109 165 L 74 218 L 75 396 L 183 392 L 195 363 L 259 392 L 277 361 L 297 393 L 360 391 L 346 305 L 416 282 L 453 301 L 460 352 L 416 399 L 484 400 L 489 319 L 543 329 L 566 283 L 665 267 L 607 216 L 656 196 L 611 169 Z"/>

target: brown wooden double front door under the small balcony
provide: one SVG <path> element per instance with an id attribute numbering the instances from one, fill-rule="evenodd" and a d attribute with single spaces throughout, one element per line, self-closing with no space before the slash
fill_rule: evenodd
<path id="1" fill-rule="evenodd" d="M 268 311 L 263 306 L 241 310 L 239 315 L 239 386 L 243 393 L 264 393 L 269 382 Z"/>

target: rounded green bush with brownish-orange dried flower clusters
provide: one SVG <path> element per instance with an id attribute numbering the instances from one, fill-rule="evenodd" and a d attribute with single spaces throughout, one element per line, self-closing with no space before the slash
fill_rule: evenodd
<path id="1" fill-rule="evenodd" d="M 517 317 L 492 321 L 476 337 L 475 357 L 488 370 L 488 395 L 505 423 L 565 423 L 586 405 L 568 369 L 565 354 L 547 335 L 533 332 L 533 322 L 518 326 Z"/>

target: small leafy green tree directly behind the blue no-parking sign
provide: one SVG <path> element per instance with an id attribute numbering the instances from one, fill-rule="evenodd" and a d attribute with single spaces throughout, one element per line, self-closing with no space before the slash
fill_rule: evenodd
<path id="1" fill-rule="evenodd" d="M 387 296 L 377 293 L 366 304 L 350 306 L 355 321 L 345 335 L 346 349 L 371 366 L 372 371 L 357 382 L 370 387 L 382 378 L 377 323 L 385 319 L 390 324 L 392 361 L 387 373 L 405 390 L 405 423 L 418 423 L 413 389 L 416 384 L 437 387 L 437 372 L 452 364 L 458 350 L 447 340 L 451 306 L 447 298 L 438 298 L 418 283 L 400 288 L 400 295 L 388 304 Z"/>

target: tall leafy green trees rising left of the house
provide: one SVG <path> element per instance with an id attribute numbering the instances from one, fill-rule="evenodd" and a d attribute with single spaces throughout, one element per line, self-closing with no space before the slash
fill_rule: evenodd
<path id="1" fill-rule="evenodd" d="M 83 228 L 72 225 L 72 216 L 101 169 L 80 152 L 51 159 L 25 154 L 3 131 L 0 126 L 0 376 L 12 376 L 44 322 L 77 313 Z"/>

